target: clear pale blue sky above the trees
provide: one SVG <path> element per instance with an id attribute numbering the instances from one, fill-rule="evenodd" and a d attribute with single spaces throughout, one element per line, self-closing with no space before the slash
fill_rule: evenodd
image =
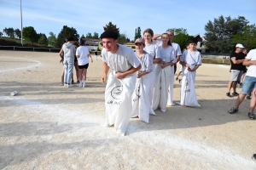
<path id="1" fill-rule="evenodd" d="M 189 35 L 203 36 L 208 20 L 221 14 L 244 16 L 256 24 L 256 0 L 22 0 L 23 27 L 33 26 L 47 37 L 49 31 L 57 37 L 63 26 L 75 28 L 80 36 L 101 35 L 109 21 L 131 40 L 138 26 L 142 33 L 146 28 L 157 34 L 183 27 Z M 0 0 L 0 31 L 5 27 L 20 29 L 20 0 Z"/>

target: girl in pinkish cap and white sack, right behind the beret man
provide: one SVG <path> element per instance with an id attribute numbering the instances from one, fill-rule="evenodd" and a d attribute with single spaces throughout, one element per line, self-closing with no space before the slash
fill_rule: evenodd
<path id="1" fill-rule="evenodd" d="M 137 82 L 135 91 L 132 94 L 132 111 L 131 117 L 138 116 L 143 122 L 149 122 L 149 113 L 151 108 L 151 71 L 153 71 L 153 58 L 143 50 L 145 42 L 143 38 L 135 41 L 137 58 L 140 60 L 142 68 L 137 71 Z"/>

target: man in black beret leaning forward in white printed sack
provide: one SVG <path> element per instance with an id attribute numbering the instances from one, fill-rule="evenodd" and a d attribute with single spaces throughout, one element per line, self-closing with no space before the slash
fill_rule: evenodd
<path id="1" fill-rule="evenodd" d="M 108 82 L 105 90 L 106 122 L 104 127 L 114 125 L 116 133 L 125 135 L 131 117 L 131 94 L 135 89 L 137 71 L 142 68 L 131 48 L 118 44 L 119 34 L 104 31 L 101 35 L 102 82 Z"/>

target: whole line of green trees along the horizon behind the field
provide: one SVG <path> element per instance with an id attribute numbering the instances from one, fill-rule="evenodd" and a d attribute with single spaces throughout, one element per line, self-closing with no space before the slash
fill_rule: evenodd
<path id="1" fill-rule="evenodd" d="M 243 17 L 238 16 L 232 19 L 230 16 L 224 17 L 223 15 L 214 18 L 213 21 L 209 20 L 205 25 L 204 41 L 202 42 L 208 51 L 216 53 L 230 53 L 234 50 L 236 43 L 242 43 L 246 48 L 252 49 L 256 47 L 256 26 L 255 24 L 249 25 L 249 21 Z M 124 44 L 131 40 L 125 33 L 119 33 L 119 28 L 109 22 L 103 26 L 103 30 L 116 31 L 119 34 L 119 43 Z M 175 33 L 174 42 L 177 42 L 181 48 L 185 48 L 189 39 L 193 36 L 188 34 L 187 29 L 184 28 L 169 28 L 166 31 L 173 31 Z M 50 45 L 60 48 L 63 40 L 66 37 L 74 37 L 79 39 L 79 33 L 73 27 L 63 26 L 60 33 L 56 36 L 52 31 L 49 32 L 49 37 L 44 33 L 37 33 L 32 26 L 23 28 L 22 35 L 27 41 L 39 44 Z M 4 28 L 3 32 L 0 31 L 0 37 L 21 37 L 21 31 L 17 28 Z M 84 34 L 81 36 L 84 37 Z M 135 29 L 135 37 L 133 42 L 143 37 L 141 28 L 138 26 Z M 93 35 L 88 32 L 84 38 L 98 39 L 98 33 L 94 32 Z"/>

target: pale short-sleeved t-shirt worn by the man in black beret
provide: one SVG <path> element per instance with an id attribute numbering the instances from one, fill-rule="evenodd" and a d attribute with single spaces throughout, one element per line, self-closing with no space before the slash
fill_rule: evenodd
<path id="1" fill-rule="evenodd" d="M 113 71 L 117 72 L 128 71 L 131 67 L 137 68 L 141 63 L 134 54 L 134 51 L 124 45 L 118 45 L 119 49 L 114 54 L 103 48 L 102 61 L 107 63 Z"/>

